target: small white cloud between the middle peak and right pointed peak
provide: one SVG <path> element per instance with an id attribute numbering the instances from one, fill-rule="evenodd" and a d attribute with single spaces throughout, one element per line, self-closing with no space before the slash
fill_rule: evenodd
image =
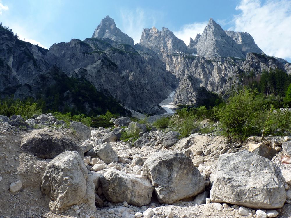
<path id="1" fill-rule="evenodd" d="M 174 32 L 175 36 L 185 42 L 186 45 L 189 45 L 190 37 L 194 40 L 198 33 L 202 33 L 207 25 L 207 21 L 205 22 L 195 22 L 193 24 L 186 24 L 182 26 L 180 31 Z"/>

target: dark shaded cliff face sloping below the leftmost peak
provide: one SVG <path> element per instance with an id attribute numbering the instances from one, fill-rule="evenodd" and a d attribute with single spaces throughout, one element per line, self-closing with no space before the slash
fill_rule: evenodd
<path id="1" fill-rule="evenodd" d="M 84 76 L 97 90 L 109 91 L 126 107 L 148 114 L 163 113 L 158 103 L 176 86 L 163 62 L 110 39 L 74 39 L 54 44 L 49 53 L 68 76 Z"/>

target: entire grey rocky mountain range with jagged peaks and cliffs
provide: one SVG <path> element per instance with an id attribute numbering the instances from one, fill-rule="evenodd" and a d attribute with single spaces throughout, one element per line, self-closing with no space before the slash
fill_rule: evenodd
<path id="1" fill-rule="evenodd" d="M 212 18 L 189 46 L 164 27 L 144 29 L 134 45 L 109 16 L 92 38 L 61 42 L 49 50 L 8 32 L 2 28 L 0 35 L 2 97 L 39 97 L 37 81 L 54 67 L 68 77 L 85 78 L 127 108 L 160 114 L 165 111 L 159 102 L 175 89 L 174 103 L 195 105 L 203 102 L 201 90 L 226 95 L 243 82 L 243 72 L 259 76 L 262 70 L 279 68 L 291 73 L 290 63 L 265 55 L 251 35 L 224 31 Z"/>

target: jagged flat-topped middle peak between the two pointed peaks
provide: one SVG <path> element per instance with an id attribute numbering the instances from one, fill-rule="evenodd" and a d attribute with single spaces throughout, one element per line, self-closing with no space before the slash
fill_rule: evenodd
<path id="1" fill-rule="evenodd" d="M 173 32 L 164 27 L 162 31 L 155 27 L 143 29 L 141 40 L 136 48 L 143 51 L 152 51 L 153 55 L 162 59 L 165 59 L 168 54 L 188 53 L 183 40 L 178 39 Z"/>

